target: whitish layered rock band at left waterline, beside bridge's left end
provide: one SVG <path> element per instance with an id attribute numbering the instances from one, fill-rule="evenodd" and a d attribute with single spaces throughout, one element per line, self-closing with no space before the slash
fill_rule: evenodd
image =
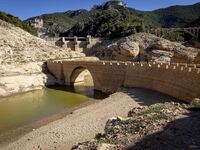
<path id="1" fill-rule="evenodd" d="M 43 62 L 0 66 L 0 97 L 56 84 Z"/>

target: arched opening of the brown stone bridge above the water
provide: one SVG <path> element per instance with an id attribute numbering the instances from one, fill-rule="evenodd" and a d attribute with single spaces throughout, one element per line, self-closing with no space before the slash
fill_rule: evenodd
<path id="1" fill-rule="evenodd" d="M 82 82 L 85 82 L 86 76 L 90 76 L 92 80 L 91 85 L 94 86 L 94 76 L 87 67 L 78 66 L 74 68 L 70 74 L 70 85 L 82 84 Z"/>

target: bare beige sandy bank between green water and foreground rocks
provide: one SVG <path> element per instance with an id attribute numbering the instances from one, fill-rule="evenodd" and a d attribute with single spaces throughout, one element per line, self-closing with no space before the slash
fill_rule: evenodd
<path id="1" fill-rule="evenodd" d="M 127 116 L 138 104 L 127 94 L 118 92 L 107 99 L 78 109 L 73 114 L 51 122 L 8 145 L 1 150 L 68 150 L 77 142 L 93 138 L 103 132 L 106 121 L 113 116 Z"/>

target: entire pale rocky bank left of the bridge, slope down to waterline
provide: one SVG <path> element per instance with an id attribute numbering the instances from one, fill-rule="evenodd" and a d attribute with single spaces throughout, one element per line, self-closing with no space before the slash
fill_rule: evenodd
<path id="1" fill-rule="evenodd" d="M 48 59 L 83 56 L 59 49 L 0 20 L 0 97 L 55 84 L 43 64 Z"/>

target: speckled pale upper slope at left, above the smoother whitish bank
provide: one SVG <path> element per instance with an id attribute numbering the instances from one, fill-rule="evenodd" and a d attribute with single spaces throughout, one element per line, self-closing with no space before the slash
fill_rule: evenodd
<path id="1" fill-rule="evenodd" d="M 72 55 L 79 55 L 72 53 Z M 0 20 L 0 64 L 66 58 L 69 52 Z"/>

